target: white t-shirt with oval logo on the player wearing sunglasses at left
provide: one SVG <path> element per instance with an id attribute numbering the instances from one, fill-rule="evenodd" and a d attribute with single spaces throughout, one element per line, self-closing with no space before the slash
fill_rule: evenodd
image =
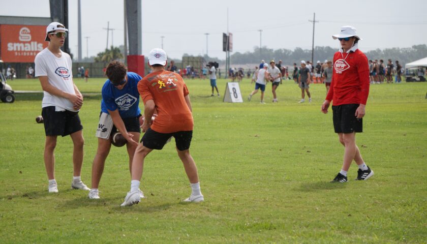
<path id="1" fill-rule="evenodd" d="M 47 76 L 49 84 L 66 93 L 76 94 L 73 83 L 72 62 L 68 53 L 61 51 L 61 57 L 56 57 L 45 48 L 36 55 L 34 60 L 36 77 Z M 43 92 L 42 108 L 56 106 L 56 111 L 78 111 L 73 109 L 70 100 Z"/>

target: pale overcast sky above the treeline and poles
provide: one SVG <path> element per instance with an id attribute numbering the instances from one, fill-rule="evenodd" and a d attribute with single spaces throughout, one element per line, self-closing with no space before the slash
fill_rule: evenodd
<path id="1" fill-rule="evenodd" d="M 4 0 L 2 0 L 3 2 Z M 35 4 L 37 2 L 37 4 Z M 2 4 L 0 15 L 49 17 L 48 0 L 13 0 Z M 77 0 L 69 0 L 70 49 L 77 57 Z M 107 27 L 114 28 L 109 46 L 124 44 L 124 14 L 121 0 L 81 0 L 82 55 L 96 55 L 107 45 Z M 357 28 L 363 41 L 362 51 L 391 47 L 411 47 L 427 43 L 427 1 L 197 1 L 197 0 L 142 0 L 142 54 L 152 48 L 163 47 L 170 58 L 182 54 L 206 53 L 225 59 L 222 51 L 222 33 L 233 34 L 233 52 L 253 51 L 262 46 L 293 50 L 311 49 L 313 13 L 316 13 L 315 46 L 339 48 L 331 35 L 342 25 Z M 88 48 L 86 39 L 89 37 Z M 280 57 L 278 57 L 280 58 Z"/>

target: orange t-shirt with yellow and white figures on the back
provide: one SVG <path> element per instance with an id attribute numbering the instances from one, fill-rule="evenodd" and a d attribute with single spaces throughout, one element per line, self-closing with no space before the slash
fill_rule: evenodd
<path id="1" fill-rule="evenodd" d="M 193 130 L 193 115 L 185 97 L 189 94 L 182 77 L 170 71 L 156 71 L 138 82 L 138 92 L 144 104 L 153 99 L 157 117 L 151 130 L 173 133 Z"/>

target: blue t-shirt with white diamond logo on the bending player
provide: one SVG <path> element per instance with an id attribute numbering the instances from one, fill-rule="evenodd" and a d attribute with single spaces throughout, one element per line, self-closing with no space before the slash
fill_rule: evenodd
<path id="1" fill-rule="evenodd" d="M 122 118 L 136 117 L 141 113 L 139 109 L 138 82 L 141 76 L 133 72 L 128 72 L 128 82 L 123 89 L 117 89 L 108 79 L 102 86 L 101 111 L 108 113 L 108 110 L 115 111 Z M 108 109 L 108 110 L 107 110 Z"/>

